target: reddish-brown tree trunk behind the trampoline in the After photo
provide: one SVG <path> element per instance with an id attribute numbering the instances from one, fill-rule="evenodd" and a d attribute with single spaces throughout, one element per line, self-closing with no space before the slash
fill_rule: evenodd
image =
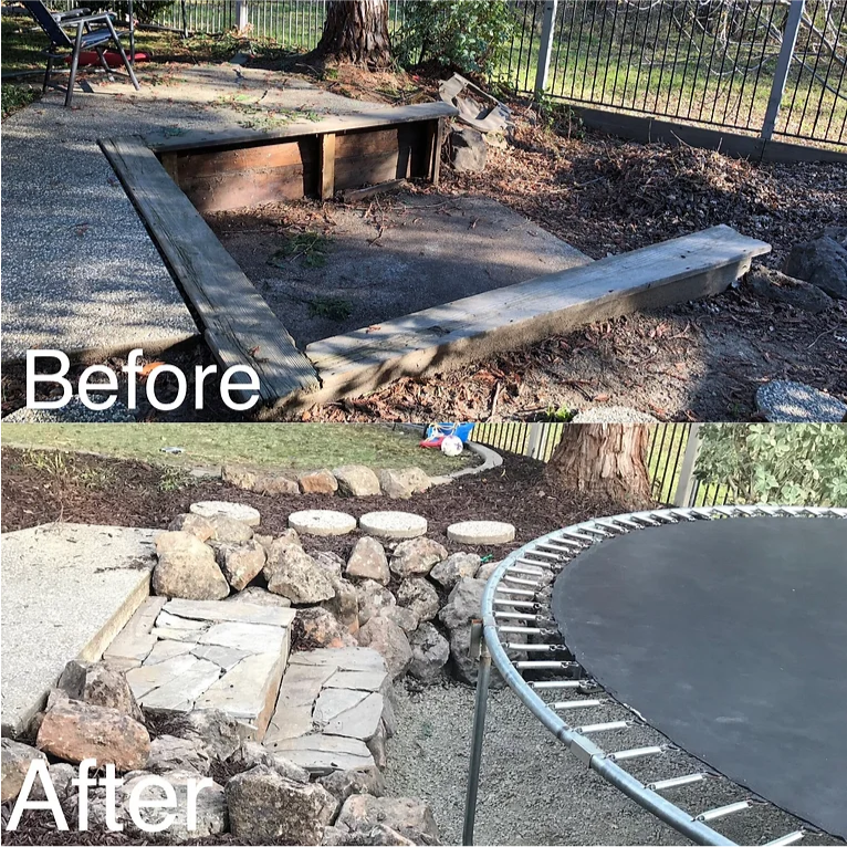
<path id="1" fill-rule="evenodd" d="M 647 474 L 645 425 L 572 423 L 547 464 L 558 488 L 607 498 L 631 511 L 653 503 Z"/>

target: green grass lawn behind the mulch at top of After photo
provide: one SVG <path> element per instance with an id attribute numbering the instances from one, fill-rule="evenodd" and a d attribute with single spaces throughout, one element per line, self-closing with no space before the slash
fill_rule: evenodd
<path id="1" fill-rule="evenodd" d="M 450 459 L 440 450 L 418 447 L 420 437 L 379 425 L 323 423 L 6 423 L 0 441 L 7 447 L 101 453 L 174 468 L 224 462 L 283 470 L 417 466 L 431 475 L 450 473 L 478 458 L 466 450 Z M 163 452 L 181 447 L 185 452 Z"/>

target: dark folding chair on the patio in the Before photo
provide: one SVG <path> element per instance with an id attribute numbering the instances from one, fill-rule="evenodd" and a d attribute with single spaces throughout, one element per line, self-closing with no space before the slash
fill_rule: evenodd
<path id="1" fill-rule="evenodd" d="M 126 56 L 121 38 L 115 30 L 111 12 L 91 14 L 87 9 L 73 9 L 70 12 L 51 12 L 41 0 L 23 0 L 23 4 L 50 39 L 50 48 L 44 51 L 48 57 L 48 67 L 44 72 L 43 91 L 46 91 L 50 85 L 53 64 L 57 59 L 65 59 L 67 54 L 63 51 L 70 50 L 71 76 L 67 80 L 67 91 L 65 92 L 65 106 L 70 106 L 73 98 L 73 87 L 76 82 L 76 69 L 80 65 L 80 53 L 83 50 L 93 50 L 97 54 L 103 69 L 106 73 L 111 74 L 112 69 L 108 66 L 105 56 L 106 44 L 109 41 L 115 42 L 130 82 L 136 91 L 139 90 L 138 80 L 135 76 L 132 63 Z M 70 30 L 70 32 L 66 30 Z"/>

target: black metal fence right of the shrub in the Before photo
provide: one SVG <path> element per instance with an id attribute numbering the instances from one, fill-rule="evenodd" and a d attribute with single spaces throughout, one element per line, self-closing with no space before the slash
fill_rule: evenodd
<path id="1" fill-rule="evenodd" d="M 515 0 L 521 92 L 847 145 L 847 0 Z"/>

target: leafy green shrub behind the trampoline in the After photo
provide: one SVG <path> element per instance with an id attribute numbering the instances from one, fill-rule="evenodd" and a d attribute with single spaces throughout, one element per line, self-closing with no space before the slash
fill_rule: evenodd
<path id="1" fill-rule="evenodd" d="M 694 475 L 729 484 L 740 502 L 847 505 L 847 426 L 709 423 Z"/>

